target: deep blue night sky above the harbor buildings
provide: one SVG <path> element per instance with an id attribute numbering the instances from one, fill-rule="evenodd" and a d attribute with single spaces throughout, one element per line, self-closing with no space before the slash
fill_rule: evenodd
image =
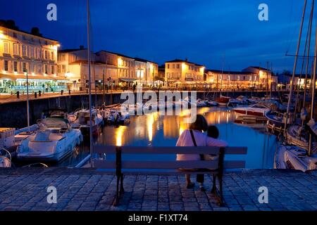
<path id="1" fill-rule="evenodd" d="M 57 21 L 46 20 L 49 3 L 57 5 Z M 258 20 L 261 3 L 268 4 L 268 22 Z M 90 0 L 92 46 L 160 65 L 188 58 L 211 69 L 224 61 L 225 70 L 242 70 L 269 61 L 275 72 L 292 70 L 294 58 L 285 53 L 295 53 L 303 6 L 304 0 Z M 0 15 L 27 32 L 39 27 L 62 49 L 87 46 L 85 0 L 4 1 Z"/>

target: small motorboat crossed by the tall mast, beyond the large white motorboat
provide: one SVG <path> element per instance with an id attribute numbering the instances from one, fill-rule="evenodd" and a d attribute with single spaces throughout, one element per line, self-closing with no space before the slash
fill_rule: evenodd
<path id="1" fill-rule="evenodd" d="M 87 109 L 80 109 L 75 111 L 73 115 L 68 115 L 68 120 L 73 128 L 80 129 L 84 136 L 89 135 L 89 117 L 90 113 Z M 101 113 L 96 109 L 92 109 L 92 134 L 99 134 L 99 129 L 104 122 Z"/>

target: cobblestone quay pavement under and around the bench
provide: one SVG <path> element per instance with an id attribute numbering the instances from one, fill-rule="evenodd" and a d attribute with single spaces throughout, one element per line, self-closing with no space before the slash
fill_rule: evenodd
<path id="1" fill-rule="evenodd" d="M 280 211 L 317 210 L 317 172 L 250 170 L 226 173 L 225 206 L 210 193 L 185 188 L 183 176 L 125 176 L 125 195 L 113 207 L 116 177 L 93 169 L 0 169 L 0 210 Z M 57 204 L 46 201 L 57 188 Z M 259 203 L 259 187 L 268 204 Z"/>

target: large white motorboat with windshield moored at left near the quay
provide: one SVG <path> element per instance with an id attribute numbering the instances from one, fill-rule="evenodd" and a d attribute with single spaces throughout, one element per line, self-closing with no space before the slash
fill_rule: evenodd
<path id="1" fill-rule="evenodd" d="M 80 129 L 71 128 L 68 120 L 49 117 L 38 120 L 37 124 L 39 130 L 18 146 L 18 160 L 58 162 L 82 142 Z"/>

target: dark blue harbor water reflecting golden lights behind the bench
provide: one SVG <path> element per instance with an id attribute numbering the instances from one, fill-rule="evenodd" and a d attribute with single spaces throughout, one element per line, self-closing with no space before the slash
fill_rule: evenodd
<path id="1" fill-rule="evenodd" d="M 94 138 L 94 144 L 110 146 L 175 146 L 182 131 L 188 124 L 182 115 L 149 115 L 131 116 L 127 126 L 105 126 L 99 136 Z M 197 113 L 204 115 L 209 124 L 216 125 L 220 131 L 219 139 L 227 141 L 229 146 L 246 146 L 247 155 L 230 155 L 230 159 L 245 159 L 247 169 L 271 169 L 273 168 L 274 154 L 276 150 L 276 137 L 266 132 L 265 122 L 237 122 L 236 113 L 230 108 L 199 108 Z M 77 147 L 70 157 L 59 162 L 58 167 L 75 167 L 81 160 L 89 155 L 89 142 L 84 141 Z M 175 155 L 127 155 L 126 157 L 144 160 L 175 160 Z M 228 157 L 228 156 L 227 156 Z M 108 156 L 113 158 L 113 156 Z M 23 166 L 25 162 L 15 162 L 17 166 Z"/>

